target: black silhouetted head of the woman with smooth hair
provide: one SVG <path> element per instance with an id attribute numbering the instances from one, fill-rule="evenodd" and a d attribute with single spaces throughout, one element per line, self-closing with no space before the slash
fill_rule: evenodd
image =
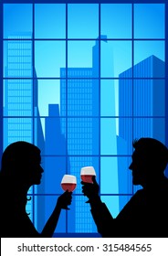
<path id="1" fill-rule="evenodd" d="M 39 148 L 34 144 L 19 141 L 5 148 L 1 172 L 28 185 L 39 184 L 43 172 L 40 162 Z"/>

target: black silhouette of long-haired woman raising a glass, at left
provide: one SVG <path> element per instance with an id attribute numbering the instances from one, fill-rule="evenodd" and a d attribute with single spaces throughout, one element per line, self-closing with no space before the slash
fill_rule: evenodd
<path id="1" fill-rule="evenodd" d="M 26 213 L 27 191 L 40 184 L 42 173 L 40 150 L 34 144 L 16 142 L 6 147 L 0 172 L 0 233 L 2 237 L 52 237 L 62 208 L 71 203 L 71 192 L 60 197 L 41 233 Z M 44 214 L 43 212 L 41 214 Z"/>

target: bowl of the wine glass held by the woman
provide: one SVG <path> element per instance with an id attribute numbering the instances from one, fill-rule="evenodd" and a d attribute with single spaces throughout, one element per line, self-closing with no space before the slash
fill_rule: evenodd
<path id="1" fill-rule="evenodd" d="M 61 180 L 61 187 L 64 191 L 74 191 L 74 189 L 77 187 L 76 176 L 64 175 Z"/>

